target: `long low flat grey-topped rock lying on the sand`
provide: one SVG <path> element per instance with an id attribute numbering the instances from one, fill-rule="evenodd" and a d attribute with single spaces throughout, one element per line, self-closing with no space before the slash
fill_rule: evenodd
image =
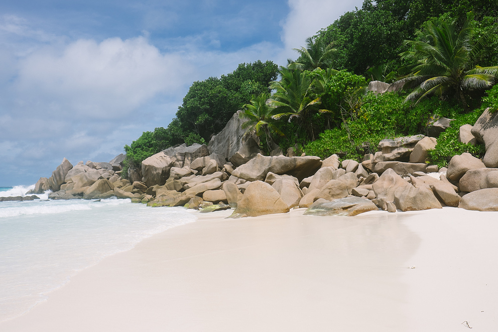
<path id="1" fill-rule="evenodd" d="M 331 202 L 318 200 L 313 203 L 304 213 L 306 216 L 357 216 L 368 211 L 378 210 L 372 201 L 359 198 L 347 197 Z"/>

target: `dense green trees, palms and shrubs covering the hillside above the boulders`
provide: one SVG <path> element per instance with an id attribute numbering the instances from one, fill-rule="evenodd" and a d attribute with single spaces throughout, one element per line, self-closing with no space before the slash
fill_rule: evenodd
<path id="1" fill-rule="evenodd" d="M 383 138 L 424 133 L 454 119 L 430 156 L 440 166 L 457 153 L 458 128 L 498 110 L 498 3 L 488 0 L 365 0 L 295 48 L 286 67 L 241 64 L 194 82 L 167 128 L 125 146 L 129 165 L 161 149 L 207 143 L 238 111 L 245 137 L 260 147 L 292 147 L 322 158 L 360 160 Z M 375 94 L 371 81 L 403 87 Z"/>

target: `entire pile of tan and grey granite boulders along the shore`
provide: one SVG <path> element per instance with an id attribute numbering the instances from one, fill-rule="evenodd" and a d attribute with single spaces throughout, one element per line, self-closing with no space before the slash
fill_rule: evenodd
<path id="1" fill-rule="evenodd" d="M 378 152 L 365 155 L 361 163 L 340 162 L 338 155 L 325 160 L 275 152 L 264 156 L 252 138 L 242 143 L 234 115 L 208 146 L 180 145 L 156 153 L 142 162 L 140 171 L 128 173 L 130 180 L 119 175 L 123 155 L 110 163 L 80 162 L 74 167 L 64 159 L 50 178 L 36 183 L 33 194 L 50 189 L 51 199 L 130 198 L 150 207 L 183 206 L 201 212 L 232 208 L 233 218 L 292 208 L 307 208 L 305 214 L 319 216 L 443 206 L 498 211 L 495 118 L 486 111 L 476 125 L 461 130 L 485 142 L 484 161 L 463 153 L 454 156 L 447 169 L 438 169 L 427 162 L 437 138 L 424 135 L 384 139 Z"/>

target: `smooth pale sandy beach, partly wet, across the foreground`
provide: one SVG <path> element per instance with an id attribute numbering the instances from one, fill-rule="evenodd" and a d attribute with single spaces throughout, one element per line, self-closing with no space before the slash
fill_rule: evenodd
<path id="1" fill-rule="evenodd" d="M 302 213 L 198 214 L 0 331 L 498 331 L 498 213 Z"/>

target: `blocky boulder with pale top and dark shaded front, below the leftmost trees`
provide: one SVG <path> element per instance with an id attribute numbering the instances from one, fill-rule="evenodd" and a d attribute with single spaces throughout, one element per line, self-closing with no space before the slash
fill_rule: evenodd
<path id="1" fill-rule="evenodd" d="M 163 151 L 158 152 L 142 161 L 142 181 L 147 187 L 164 185 L 169 178 L 169 171 L 176 159 Z"/>

